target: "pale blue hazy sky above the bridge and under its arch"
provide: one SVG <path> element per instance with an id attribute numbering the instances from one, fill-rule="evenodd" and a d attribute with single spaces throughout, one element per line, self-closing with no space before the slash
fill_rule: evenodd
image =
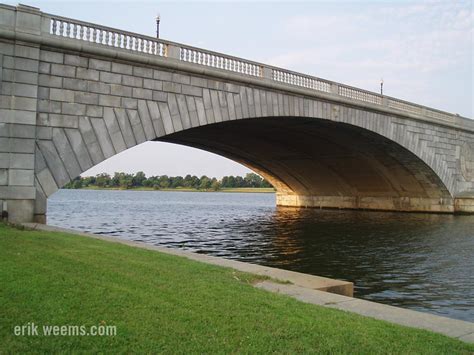
<path id="1" fill-rule="evenodd" d="M 234 55 L 472 118 L 473 1 L 32 1 L 71 17 Z M 16 5 L 17 2 L 5 1 Z M 228 159 L 148 142 L 85 172 L 243 175 Z"/>

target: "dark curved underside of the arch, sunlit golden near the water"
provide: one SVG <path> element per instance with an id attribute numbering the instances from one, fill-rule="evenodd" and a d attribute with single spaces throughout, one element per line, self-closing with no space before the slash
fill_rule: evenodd
<path id="1" fill-rule="evenodd" d="M 280 206 L 455 211 L 454 199 L 420 158 L 351 125 L 268 117 L 207 125 L 160 141 L 201 148 L 250 167 L 275 186 Z"/>

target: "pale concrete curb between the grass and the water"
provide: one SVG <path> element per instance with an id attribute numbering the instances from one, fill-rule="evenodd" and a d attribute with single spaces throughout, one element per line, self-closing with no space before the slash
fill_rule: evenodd
<path id="1" fill-rule="evenodd" d="M 467 343 L 474 343 L 474 323 L 348 297 L 352 296 L 353 292 L 353 284 L 351 282 L 333 280 L 293 271 L 244 263 L 241 261 L 227 260 L 189 251 L 157 247 L 154 245 L 128 241 L 116 237 L 83 233 L 71 229 L 53 227 L 44 224 L 24 223 L 22 225 L 33 230 L 64 232 L 81 235 L 136 248 L 154 250 L 165 254 L 181 256 L 191 260 L 217 266 L 229 267 L 252 274 L 268 276 L 279 281 L 290 282 L 291 284 L 279 284 L 272 281 L 262 281 L 256 284 L 255 287 L 270 292 L 284 294 L 305 303 L 336 308 L 407 327 L 429 330 L 452 338 L 457 338 Z"/>

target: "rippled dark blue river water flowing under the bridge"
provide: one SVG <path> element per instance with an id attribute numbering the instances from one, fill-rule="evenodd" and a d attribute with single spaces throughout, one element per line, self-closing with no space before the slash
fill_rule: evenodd
<path id="1" fill-rule="evenodd" d="M 275 207 L 273 194 L 60 190 L 48 224 L 352 281 L 474 322 L 474 216 Z"/>

